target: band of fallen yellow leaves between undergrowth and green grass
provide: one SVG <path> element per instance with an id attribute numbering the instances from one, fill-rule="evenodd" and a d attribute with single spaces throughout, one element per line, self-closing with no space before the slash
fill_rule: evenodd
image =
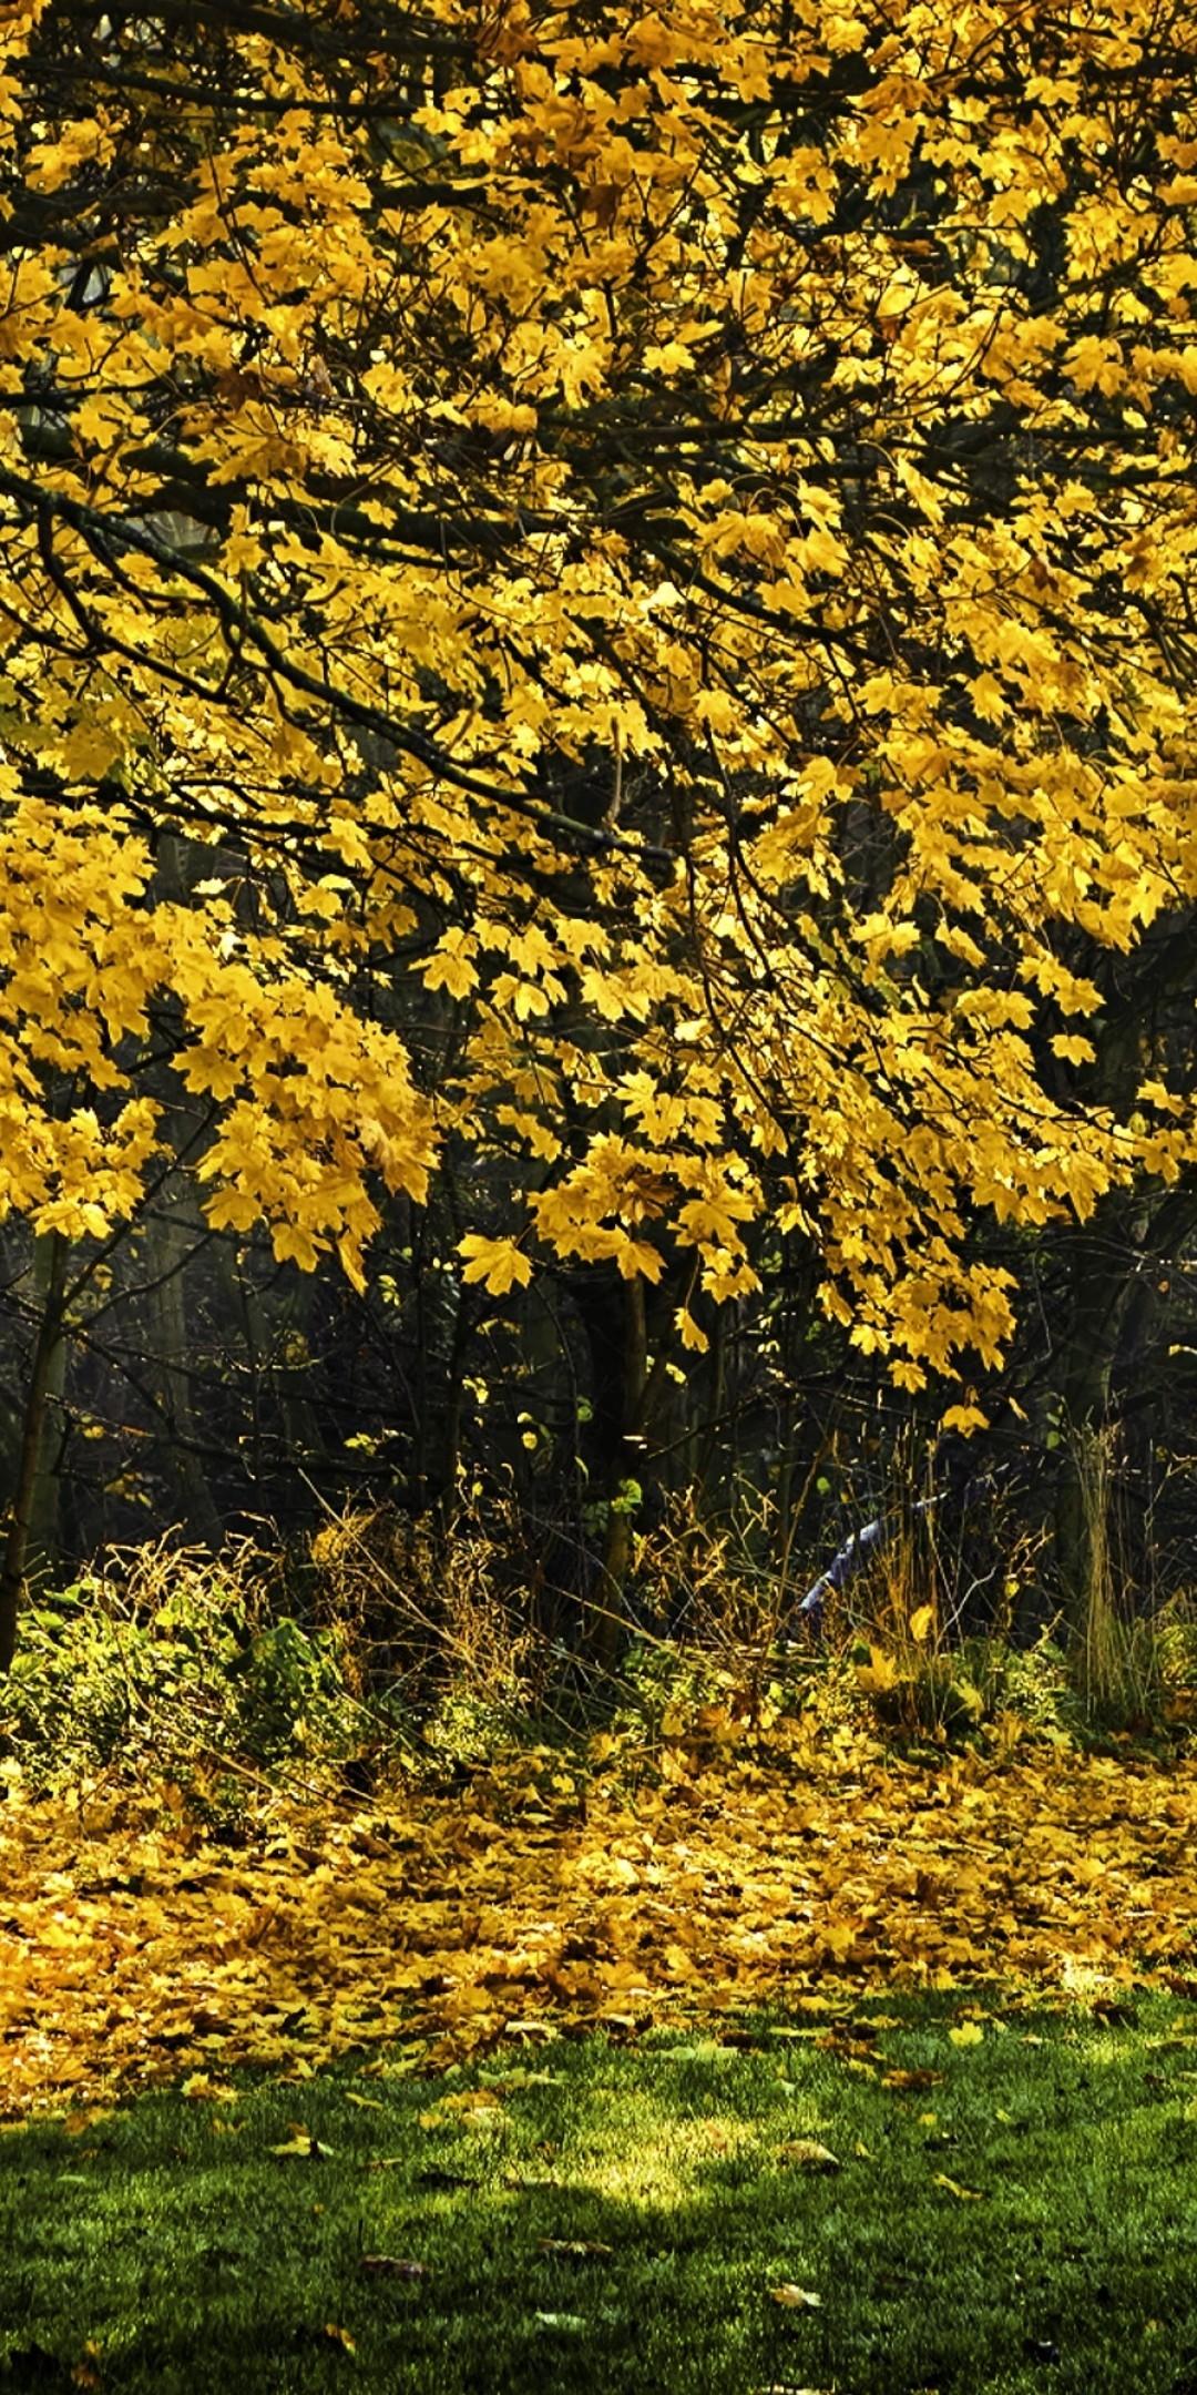
<path id="1" fill-rule="evenodd" d="M 440 2067 L 560 2029 L 730 2019 L 836 1981 L 1197 1969 L 1197 1770 L 941 1768 L 795 1727 L 768 1756 L 541 1751 L 467 1789 L 268 1811 L 237 1847 L 141 1799 L 0 1803 L 10 2115 L 405 2038 Z"/>

